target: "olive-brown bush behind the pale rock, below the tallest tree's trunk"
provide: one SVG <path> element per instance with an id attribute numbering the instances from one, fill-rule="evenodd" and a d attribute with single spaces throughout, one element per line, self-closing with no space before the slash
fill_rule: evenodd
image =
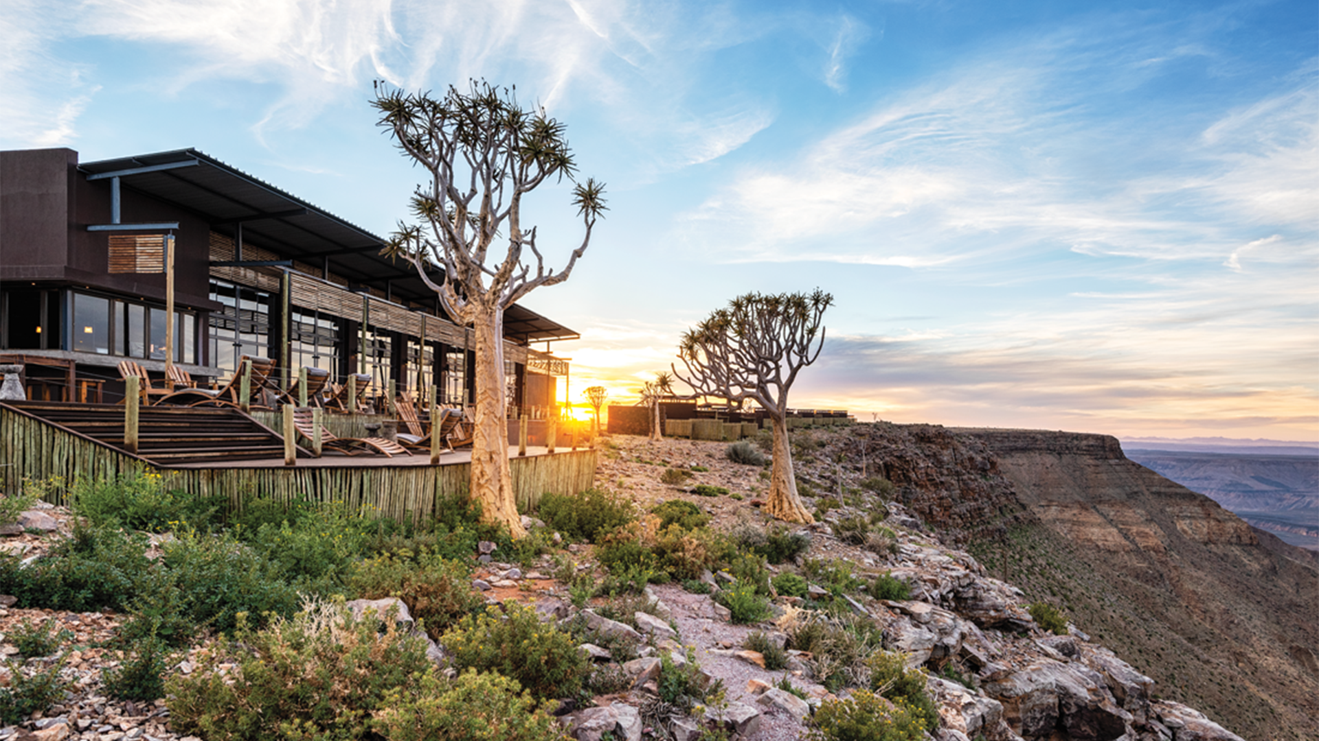
<path id="1" fill-rule="evenodd" d="M 472 592 L 467 564 L 423 552 L 381 555 L 361 562 L 348 579 L 348 591 L 364 600 L 398 597 L 414 620 L 421 620 L 433 636 L 441 636 L 464 614 L 481 607 Z"/>

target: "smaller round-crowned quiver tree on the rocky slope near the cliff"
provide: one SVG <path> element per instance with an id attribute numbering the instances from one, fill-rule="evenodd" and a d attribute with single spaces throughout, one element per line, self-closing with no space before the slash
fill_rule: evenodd
<path id="1" fill-rule="evenodd" d="M 787 390 L 824 345 L 820 319 L 834 297 L 749 293 L 682 335 L 678 356 L 687 373 L 674 373 L 698 394 L 740 403 L 752 400 L 774 427 L 774 463 L 765 510 L 789 522 L 815 522 L 797 494 L 793 448 L 787 444 Z"/>

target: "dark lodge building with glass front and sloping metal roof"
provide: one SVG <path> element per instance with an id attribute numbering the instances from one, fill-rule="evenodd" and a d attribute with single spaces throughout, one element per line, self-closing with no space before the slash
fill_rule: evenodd
<path id="1" fill-rule="evenodd" d="M 21 356 L 29 398 L 117 401 L 124 359 L 164 373 L 168 236 L 173 361 L 195 380 L 264 356 L 285 388 L 311 367 L 336 381 L 369 374 L 377 397 L 393 381 L 471 403 L 471 331 L 410 264 L 381 256 L 381 237 L 195 149 L 96 162 L 71 149 L 0 152 L 0 363 Z M 576 338 L 525 307 L 505 311 L 510 417 L 555 407 L 568 368 L 549 347 Z"/>

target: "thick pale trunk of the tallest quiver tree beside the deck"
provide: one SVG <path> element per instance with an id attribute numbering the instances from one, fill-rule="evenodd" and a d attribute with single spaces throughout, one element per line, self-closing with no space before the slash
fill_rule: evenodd
<path id="1" fill-rule="evenodd" d="M 506 525 L 514 538 L 526 534 L 517 513 L 508 465 L 508 406 L 504 388 L 504 312 L 493 310 L 472 323 L 476 335 L 476 430 L 472 435 L 472 496 L 481 521 Z"/>

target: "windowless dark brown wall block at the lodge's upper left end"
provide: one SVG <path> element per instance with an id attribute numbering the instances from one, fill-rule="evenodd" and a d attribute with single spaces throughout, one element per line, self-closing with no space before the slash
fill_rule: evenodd
<path id="1" fill-rule="evenodd" d="M 63 277 L 77 165 L 71 149 L 0 152 L 0 280 Z"/>

